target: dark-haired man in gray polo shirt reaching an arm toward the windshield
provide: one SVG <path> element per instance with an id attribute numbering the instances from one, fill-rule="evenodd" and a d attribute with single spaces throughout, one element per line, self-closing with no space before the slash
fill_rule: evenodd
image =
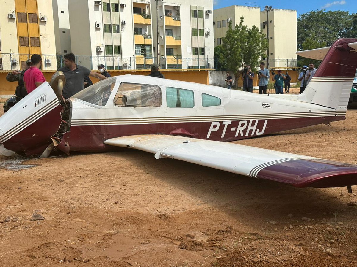
<path id="1" fill-rule="evenodd" d="M 63 72 L 66 77 L 66 84 L 63 87 L 62 95 L 64 98 L 70 98 L 72 95 L 78 93 L 84 88 L 84 77 L 91 76 L 100 80 L 106 79 L 102 74 L 92 72 L 86 67 L 76 64 L 76 57 L 73 53 L 64 55 L 65 67 L 58 69 L 57 71 Z"/>

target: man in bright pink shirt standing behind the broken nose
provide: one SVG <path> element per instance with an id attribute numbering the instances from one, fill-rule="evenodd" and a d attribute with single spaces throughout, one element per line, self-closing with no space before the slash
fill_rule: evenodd
<path id="1" fill-rule="evenodd" d="M 24 85 L 27 93 L 29 94 L 42 83 L 46 82 L 44 75 L 40 68 L 42 66 L 42 58 L 39 54 L 31 56 L 32 67 L 30 67 L 24 74 Z"/>

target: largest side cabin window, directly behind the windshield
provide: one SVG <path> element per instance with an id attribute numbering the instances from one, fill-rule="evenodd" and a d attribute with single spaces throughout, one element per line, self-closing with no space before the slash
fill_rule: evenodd
<path id="1" fill-rule="evenodd" d="M 159 107 L 161 88 L 151 84 L 121 83 L 114 97 L 117 106 Z"/>

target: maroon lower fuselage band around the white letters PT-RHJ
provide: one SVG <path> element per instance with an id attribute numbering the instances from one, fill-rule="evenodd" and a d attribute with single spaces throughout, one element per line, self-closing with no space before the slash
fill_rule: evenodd
<path id="1" fill-rule="evenodd" d="M 237 128 L 240 121 L 231 121 L 226 127 L 222 121 L 218 122 L 219 127 L 216 131 L 210 132 L 210 137 L 207 138 L 211 125 L 214 122 L 180 122 L 180 123 L 153 123 L 153 124 L 127 124 L 127 125 L 82 125 L 71 126 L 66 142 L 70 145 L 71 151 L 113 151 L 114 147 L 104 144 L 104 141 L 109 138 L 130 136 L 130 135 L 146 135 L 146 134 L 166 134 L 166 135 L 182 135 L 187 137 L 195 137 L 200 139 L 209 139 L 215 141 L 235 141 L 245 138 L 267 135 L 280 131 L 297 129 L 305 126 L 328 123 L 346 119 L 345 116 L 324 116 L 324 117 L 307 117 L 307 118 L 288 118 L 288 119 L 268 119 L 265 124 L 265 119 L 261 120 L 246 120 L 247 127 L 238 133 Z M 217 123 L 217 122 L 215 122 Z M 250 130 L 247 133 L 248 126 L 256 126 L 256 129 Z M 265 125 L 265 129 L 263 128 Z M 234 129 L 234 130 L 232 130 Z M 258 131 L 257 131 L 258 130 Z M 254 133 L 253 133 L 254 132 Z M 180 134 L 182 133 L 182 134 Z M 223 135 L 223 137 L 222 137 Z M 236 136 L 237 135 L 237 136 Z"/>

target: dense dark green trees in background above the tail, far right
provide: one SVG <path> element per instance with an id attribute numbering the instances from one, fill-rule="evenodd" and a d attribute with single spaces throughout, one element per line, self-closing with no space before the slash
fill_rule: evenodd
<path id="1" fill-rule="evenodd" d="M 348 11 L 326 12 L 323 9 L 301 14 L 297 19 L 297 48 L 303 50 L 302 44 L 307 38 L 331 46 L 336 39 L 348 37 L 348 32 L 352 30 L 352 22 L 353 15 Z"/>

